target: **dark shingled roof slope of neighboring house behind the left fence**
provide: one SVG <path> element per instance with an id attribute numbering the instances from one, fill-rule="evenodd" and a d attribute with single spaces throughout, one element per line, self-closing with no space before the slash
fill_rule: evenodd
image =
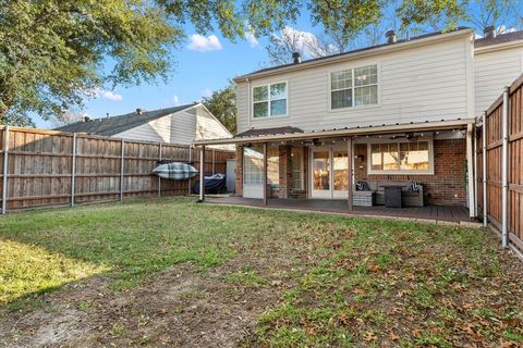
<path id="1" fill-rule="evenodd" d="M 60 132 L 69 133 L 86 133 L 86 134 L 96 134 L 104 136 L 112 136 L 132 128 L 135 128 L 139 125 L 143 125 L 149 121 L 167 116 L 171 113 L 175 113 L 188 108 L 192 108 L 196 104 L 185 104 L 180 107 L 154 110 L 154 111 L 144 111 L 138 114 L 136 111 L 126 113 L 123 115 L 111 116 L 111 117 L 101 117 L 90 121 L 80 121 L 71 123 L 61 127 L 56 128 Z"/>

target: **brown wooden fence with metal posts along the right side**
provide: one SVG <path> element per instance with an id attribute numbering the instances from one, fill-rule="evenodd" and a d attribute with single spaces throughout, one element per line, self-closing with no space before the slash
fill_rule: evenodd
<path id="1" fill-rule="evenodd" d="M 523 250 L 522 102 L 523 75 L 484 113 L 476 133 L 478 212 L 485 217 L 486 207 L 485 225 L 488 223 L 501 232 L 503 246 L 510 244 L 520 251 Z"/>

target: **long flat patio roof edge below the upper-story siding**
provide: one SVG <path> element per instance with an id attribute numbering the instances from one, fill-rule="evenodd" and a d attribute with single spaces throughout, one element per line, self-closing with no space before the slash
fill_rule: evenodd
<path id="1" fill-rule="evenodd" d="M 396 124 L 382 124 L 382 125 L 368 125 L 357 127 L 345 128 L 332 128 L 321 130 L 311 130 L 303 133 L 281 133 L 281 134 L 267 134 L 251 136 L 236 136 L 234 138 L 219 138 L 219 139 L 205 139 L 194 142 L 196 146 L 207 145 L 228 145 L 228 144 L 245 144 L 245 142 L 270 142 L 270 141 L 292 141 L 292 140 L 306 140 L 306 139 L 320 139 L 320 138 L 333 138 L 345 136 L 360 136 L 372 134 L 390 134 L 405 130 L 437 130 L 437 129 L 453 129 L 457 127 L 464 127 L 469 124 L 474 124 L 475 119 L 458 119 L 449 121 L 426 121 L 426 122 L 410 122 L 410 123 L 396 123 Z M 273 128 L 277 129 L 277 128 Z"/>

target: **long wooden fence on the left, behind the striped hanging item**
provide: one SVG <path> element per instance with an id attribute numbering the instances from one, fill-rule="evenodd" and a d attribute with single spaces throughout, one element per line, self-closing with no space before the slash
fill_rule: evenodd
<path id="1" fill-rule="evenodd" d="M 187 195 L 197 178 L 160 179 L 160 160 L 192 162 L 187 145 L 133 141 L 33 128 L 0 128 L 2 213 L 9 210 L 118 200 L 136 196 Z M 226 173 L 234 152 L 206 151 L 205 174 Z"/>

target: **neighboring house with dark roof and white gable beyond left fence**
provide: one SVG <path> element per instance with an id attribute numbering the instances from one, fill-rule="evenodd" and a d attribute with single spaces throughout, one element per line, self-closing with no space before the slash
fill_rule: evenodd
<path id="1" fill-rule="evenodd" d="M 227 128 L 202 103 L 71 123 L 56 128 L 131 140 L 191 145 L 196 140 L 231 138 Z"/>

